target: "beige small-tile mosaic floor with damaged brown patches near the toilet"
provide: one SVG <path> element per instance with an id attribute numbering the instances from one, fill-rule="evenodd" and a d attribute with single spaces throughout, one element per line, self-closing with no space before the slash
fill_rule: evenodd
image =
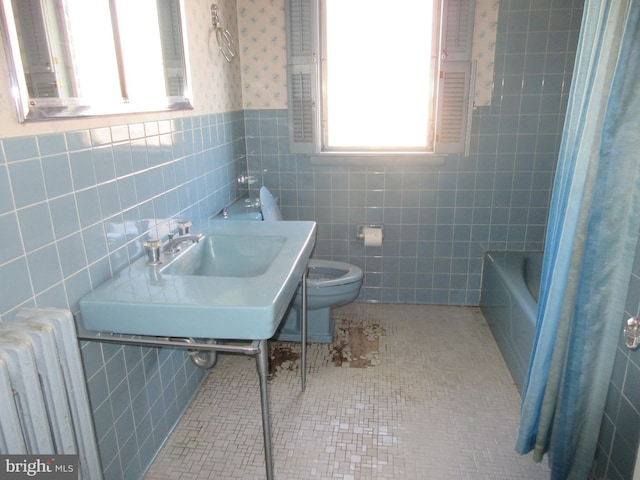
<path id="1" fill-rule="evenodd" d="M 479 309 L 353 303 L 333 344 L 272 342 L 276 479 L 549 478 L 514 451 L 520 396 Z M 264 479 L 255 361 L 219 355 L 145 480 Z"/>

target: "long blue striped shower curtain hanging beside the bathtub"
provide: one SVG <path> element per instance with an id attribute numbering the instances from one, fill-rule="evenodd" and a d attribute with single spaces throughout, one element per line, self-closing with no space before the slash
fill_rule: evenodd
<path id="1" fill-rule="evenodd" d="M 588 477 L 640 228 L 640 0 L 586 0 L 545 243 L 519 453 Z"/>

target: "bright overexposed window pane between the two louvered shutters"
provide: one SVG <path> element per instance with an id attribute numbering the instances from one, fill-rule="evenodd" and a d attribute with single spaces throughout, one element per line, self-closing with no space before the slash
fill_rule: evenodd
<path id="1" fill-rule="evenodd" d="M 326 150 L 416 150 L 433 144 L 433 2 L 324 2 Z"/>

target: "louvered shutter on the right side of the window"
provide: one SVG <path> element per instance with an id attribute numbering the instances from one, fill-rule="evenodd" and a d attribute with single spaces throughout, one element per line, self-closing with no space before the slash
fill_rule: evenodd
<path id="1" fill-rule="evenodd" d="M 443 2 L 435 153 L 464 151 L 470 108 L 474 5 L 474 0 Z"/>

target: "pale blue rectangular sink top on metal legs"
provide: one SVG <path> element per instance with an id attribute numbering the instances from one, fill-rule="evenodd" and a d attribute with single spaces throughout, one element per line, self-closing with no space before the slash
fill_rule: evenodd
<path id="1" fill-rule="evenodd" d="M 142 258 L 80 300 L 88 330 L 239 340 L 271 338 L 315 245 L 315 222 L 194 222 L 204 238 Z"/>

